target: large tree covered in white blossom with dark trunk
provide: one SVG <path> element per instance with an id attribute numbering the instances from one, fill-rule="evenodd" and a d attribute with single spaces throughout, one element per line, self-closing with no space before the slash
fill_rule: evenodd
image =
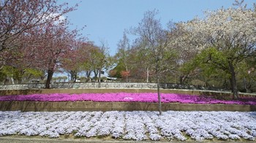
<path id="1" fill-rule="evenodd" d="M 238 63 L 255 55 L 255 11 L 246 7 L 222 8 L 206 12 L 205 18 L 195 18 L 179 26 L 189 33 L 187 41 L 197 39 L 195 48 L 207 53 L 203 54 L 206 55 L 204 62 L 227 73 L 233 98 L 238 98 Z"/>

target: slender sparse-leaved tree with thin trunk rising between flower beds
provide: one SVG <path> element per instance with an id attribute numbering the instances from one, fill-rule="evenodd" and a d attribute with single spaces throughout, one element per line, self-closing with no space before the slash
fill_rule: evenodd
<path id="1" fill-rule="evenodd" d="M 156 18 L 157 10 L 144 13 L 144 18 L 140 21 L 138 27 L 132 28 L 131 33 L 138 37 L 137 41 L 143 43 L 145 49 L 148 49 L 148 59 L 153 66 L 157 80 L 157 95 L 159 101 L 159 115 L 162 115 L 161 95 L 159 90 L 159 77 L 163 71 L 173 69 L 171 64 L 175 60 L 175 52 L 169 46 L 170 31 L 162 28 L 160 20 Z"/>

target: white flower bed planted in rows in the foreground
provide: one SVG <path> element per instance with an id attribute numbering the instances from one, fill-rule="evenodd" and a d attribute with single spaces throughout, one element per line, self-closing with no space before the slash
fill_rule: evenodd
<path id="1" fill-rule="evenodd" d="M 0 112 L 0 136 L 255 140 L 256 112 Z"/>

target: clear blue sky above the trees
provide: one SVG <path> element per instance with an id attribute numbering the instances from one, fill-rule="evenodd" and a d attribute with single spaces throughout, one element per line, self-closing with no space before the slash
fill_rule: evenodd
<path id="1" fill-rule="evenodd" d="M 167 22 L 186 22 L 195 16 L 203 17 L 206 10 L 233 7 L 234 0 L 60 0 L 70 6 L 78 3 L 77 10 L 65 15 L 71 28 L 82 28 L 80 33 L 101 46 L 108 43 L 110 55 L 117 52 L 118 41 L 125 29 L 138 26 L 144 12 L 159 10 L 162 26 Z M 252 7 L 255 0 L 245 0 Z M 132 35 L 128 35 L 128 37 Z"/>

